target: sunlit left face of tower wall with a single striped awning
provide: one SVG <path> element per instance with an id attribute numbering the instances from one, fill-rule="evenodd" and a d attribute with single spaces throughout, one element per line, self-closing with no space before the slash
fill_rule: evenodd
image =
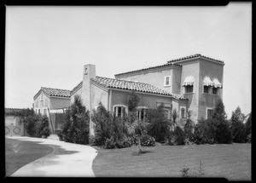
<path id="1" fill-rule="evenodd" d="M 179 63 L 183 66 L 182 69 L 182 77 L 181 77 L 181 94 L 183 94 L 184 97 L 189 99 L 188 101 L 188 108 L 187 110 L 193 111 L 193 115 L 191 119 L 197 123 L 198 120 L 198 105 L 199 105 L 199 70 L 200 70 L 200 63 L 199 60 L 190 60 L 188 62 Z M 194 82 L 194 91 L 193 93 L 184 94 L 184 87 L 182 86 L 184 80 L 186 77 L 194 76 L 195 82 Z"/>

